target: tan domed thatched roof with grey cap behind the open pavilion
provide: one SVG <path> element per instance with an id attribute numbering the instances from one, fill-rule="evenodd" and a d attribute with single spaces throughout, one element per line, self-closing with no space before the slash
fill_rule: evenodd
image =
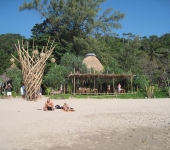
<path id="1" fill-rule="evenodd" d="M 94 53 L 88 53 L 86 57 L 84 58 L 83 63 L 87 65 L 88 69 L 94 68 L 94 70 L 98 72 L 103 71 L 103 65 L 96 58 L 96 55 Z"/>

